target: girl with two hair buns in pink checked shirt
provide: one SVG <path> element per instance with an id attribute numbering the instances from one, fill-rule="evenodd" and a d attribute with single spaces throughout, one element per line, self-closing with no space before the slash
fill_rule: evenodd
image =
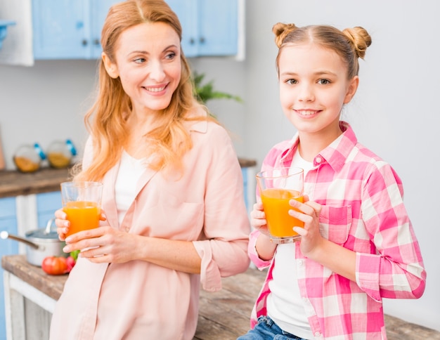
<path id="1" fill-rule="evenodd" d="M 273 27 L 280 103 L 297 135 L 275 145 L 261 170 L 304 168 L 304 204 L 289 214 L 301 240 L 273 244 L 254 204 L 248 252 L 268 267 L 238 339 L 386 339 L 382 298 L 417 299 L 426 273 L 392 167 L 358 143 L 342 107 L 358 88 L 358 58 L 371 44 L 362 27 Z"/>

